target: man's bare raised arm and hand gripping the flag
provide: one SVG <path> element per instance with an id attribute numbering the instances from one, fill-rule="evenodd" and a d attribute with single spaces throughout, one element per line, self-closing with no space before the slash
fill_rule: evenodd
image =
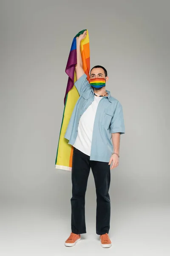
<path id="1" fill-rule="evenodd" d="M 80 43 L 82 39 L 84 39 L 87 35 L 87 31 L 85 30 L 82 35 L 79 35 L 79 37 L 76 38 L 77 41 L 77 64 L 75 66 L 75 71 L 76 71 L 76 77 L 77 80 L 85 73 L 83 68 L 82 68 L 82 55 L 81 55 L 81 50 L 80 50 Z"/>

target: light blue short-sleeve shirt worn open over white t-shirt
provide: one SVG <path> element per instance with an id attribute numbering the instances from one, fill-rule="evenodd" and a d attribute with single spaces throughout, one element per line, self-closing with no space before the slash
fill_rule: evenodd
<path id="1" fill-rule="evenodd" d="M 79 92 L 79 99 L 74 107 L 71 119 L 65 132 L 68 144 L 74 145 L 77 138 L 79 119 L 94 101 L 94 90 L 83 74 L 76 82 L 75 87 Z M 125 133 L 123 110 L 121 103 L 111 96 L 103 96 L 99 101 L 94 120 L 94 129 L 91 143 L 90 160 L 109 162 L 113 153 L 112 133 Z"/>

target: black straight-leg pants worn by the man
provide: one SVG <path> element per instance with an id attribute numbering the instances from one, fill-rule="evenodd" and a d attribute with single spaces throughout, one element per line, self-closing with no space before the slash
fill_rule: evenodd
<path id="1" fill-rule="evenodd" d="M 73 151 L 71 171 L 71 231 L 76 234 L 86 233 L 85 226 L 85 192 L 90 169 L 96 186 L 96 233 L 109 233 L 111 203 L 109 186 L 111 182 L 110 166 L 106 162 L 92 161 L 90 157 L 77 148 Z"/>

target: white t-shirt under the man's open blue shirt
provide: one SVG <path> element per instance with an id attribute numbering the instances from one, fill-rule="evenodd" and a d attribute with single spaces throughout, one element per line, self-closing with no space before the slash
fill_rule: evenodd
<path id="1" fill-rule="evenodd" d="M 94 119 L 96 116 L 97 106 L 101 99 L 102 97 L 94 96 L 94 101 L 80 117 L 77 138 L 73 145 L 75 148 L 79 149 L 88 156 L 91 155 L 91 141 L 93 135 Z"/>

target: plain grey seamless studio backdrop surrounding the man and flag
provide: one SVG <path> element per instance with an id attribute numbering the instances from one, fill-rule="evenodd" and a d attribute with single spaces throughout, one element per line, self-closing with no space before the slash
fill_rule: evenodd
<path id="1" fill-rule="evenodd" d="M 169 255 L 169 10 L 166 0 L 0 1 L 1 255 Z M 96 235 L 92 173 L 87 233 L 81 244 L 64 246 L 71 172 L 55 169 L 55 157 L 65 66 L 82 29 L 91 67 L 108 70 L 106 87 L 125 119 L 119 166 L 111 170 L 108 250 Z"/>

